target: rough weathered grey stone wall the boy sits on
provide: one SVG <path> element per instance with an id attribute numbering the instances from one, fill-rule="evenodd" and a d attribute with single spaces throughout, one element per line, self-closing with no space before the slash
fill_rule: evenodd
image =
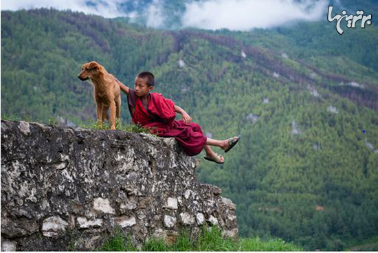
<path id="1" fill-rule="evenodd" d="M 139 246 L 203 223 L 237 237 L 234 203 L 198 165 L 174 138 L 1 120 L 1 250 L 93 250 L 115 225 Z"/>

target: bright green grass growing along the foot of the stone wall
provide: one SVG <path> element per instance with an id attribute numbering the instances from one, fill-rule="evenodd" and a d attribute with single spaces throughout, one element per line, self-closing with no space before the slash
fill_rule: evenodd
<path id="1" fill-rule="evenodd" d="M 95 251 L 303 251 L 300 246 L 282 239 L 261 241 L 258 237 L 223 238 L 218 226 L 203 225 L 198 238 L 192 236 L 188 228 L 181 229 L 175 243 L 169 245 L 162 237 L 151 236 L 138 249 L 130 239 L 130 234 L 115 227 L 113 236 L 105 239 L 104 245 Z"/>

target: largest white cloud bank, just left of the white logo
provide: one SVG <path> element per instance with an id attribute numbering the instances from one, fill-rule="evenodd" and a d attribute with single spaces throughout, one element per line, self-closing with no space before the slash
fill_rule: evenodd
<path id="1" fill-rule="evenodd" d="M 318 21 L 328 0 L 210 0 L 186 3 L 181 19 L 184 27 L 216 30 L 271 28 L 293 21 Z"/>

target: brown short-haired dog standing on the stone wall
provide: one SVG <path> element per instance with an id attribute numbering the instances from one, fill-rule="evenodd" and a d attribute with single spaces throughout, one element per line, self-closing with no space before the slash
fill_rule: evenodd
<path id="1" fill-rule="evenodd" d="M 120 118 L 121 89 L 115 77 L 109 74 L 102 65 L 91 61 L 82 65 L 82 72 L 78 78 L 82 81 L 90 79 L 94 86 L 94 99 L 97 104 L 97 120 L 102 124 L 109 120 L 110 107 L 111 130 L 115 130 L 115 117 Z"/>

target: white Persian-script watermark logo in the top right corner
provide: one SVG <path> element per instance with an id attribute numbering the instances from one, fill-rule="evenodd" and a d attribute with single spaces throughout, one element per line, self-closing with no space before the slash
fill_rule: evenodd
<path id="1" fill-rule="evenodd" d="M 368 25 L 371 25 L 370 19 L 373 18 L 373 15 L 370 14 L 368 16 L 363 16 L 363 14 L 364 14 L 363 10 L 357 10 L 357 12 L 356 12 L 357 16 L 353 15 L 353 14 L 347 15 L 346 10 L 343 10 L 342 11 L 343 16 L 340 15 L 340 14 L 337 14 L 337 15 L 335 15 L 335 17 L 332 17 L 332 9 L 333 9 L 333 6 L 329 5 L 327 19 L 330 23 L 332 23 L 334 20 L 337 20 L 336 30 L 340 35 L 342 35 L 344 33 L 342 28 L 340 28 L 340 23 L 344 18 L 345 18 L 345 21 L 348 21 L 348 25 L 346 25 L 347 28 L 356 28 L 356 23 L 359 20 L 361 20 L 361 28 L 365 28 L 365 23 L 368 24 Z"/>

